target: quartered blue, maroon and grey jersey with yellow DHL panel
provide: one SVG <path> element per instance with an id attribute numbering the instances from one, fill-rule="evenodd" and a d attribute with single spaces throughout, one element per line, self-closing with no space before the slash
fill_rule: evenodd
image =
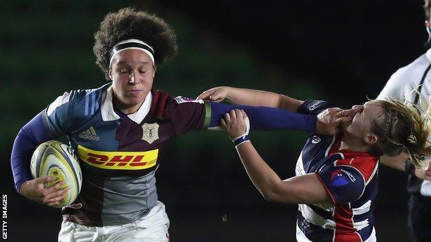
<path id="1" fill-rule="evenodd" d="M 103 226 L 140 219 L 157 202 L 155 170 L 164 145 L 209 124 L 204 101 L 151 91 L 135 114 L 113 106 L 111 84 L 66 92 L 46 110 L 54 137 L 66 134 L 79 157 L 82 190 L 65 220 Z"/>

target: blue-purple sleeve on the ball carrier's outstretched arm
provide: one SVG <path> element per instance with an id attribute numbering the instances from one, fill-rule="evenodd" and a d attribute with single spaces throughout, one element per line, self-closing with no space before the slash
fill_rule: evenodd
<path id="1" fill-rule="evenodd" d="M 208 105 L 208 104 L 207 104 Z M 253 130 L 302 130 L 316 131 L 316 116 L 298 114 L 287 110 L 269 107 L 253 107 L 247 105 L 229 105 L 224 103 L 210 103 L 211 119 L 209 128 L 220 125 L 224 114 L 230 110 L 240 109 L 247 113 L 250 120 L 250 128 Z"/>

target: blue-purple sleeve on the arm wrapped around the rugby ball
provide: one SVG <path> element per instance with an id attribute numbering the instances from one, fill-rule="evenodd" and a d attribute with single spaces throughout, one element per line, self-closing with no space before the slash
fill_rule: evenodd
<path id="1" fill-rule="evenodd" d="M 19 192 L 22 183 L 32 179 L 29 161 L 37 145 L 50 139 L 54 134 L 47 128 L 46 111 L 40 112 L 19 130 L 12 148 L 10 165 L 15 181 L 15 189 Z"/>

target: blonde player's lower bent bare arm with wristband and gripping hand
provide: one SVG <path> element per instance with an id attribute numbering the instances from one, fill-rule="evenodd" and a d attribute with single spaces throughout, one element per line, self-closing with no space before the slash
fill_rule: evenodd
<path id="1" fill-rule="evenodd" d="M 322 183 L 316 174 L 305 174 L 281 180 L 267 163 L 260 157 L 248 137 L 242 137 L 245 130 L 244 118 L 247 117 L 242 110 L 232 110 L 222 120 L 231 139 L 236 139 L 236 150 L 242 164 L 262 196 L 268 201 L 280 203 L 331 203 Z"/>

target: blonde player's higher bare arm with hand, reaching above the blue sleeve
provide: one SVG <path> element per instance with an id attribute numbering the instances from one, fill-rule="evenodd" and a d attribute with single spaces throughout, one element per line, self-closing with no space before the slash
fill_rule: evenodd
<path id="1" fill-rule="evenodd" d="M 291 112 L 296 112 L 298 107 L 304 102 L 274 92 L 232 88 L 227 86 L 206 90 L 202 92 L 197 99 L 215 102 L 225 100 L 233 104 L 282 108 Z"/>

